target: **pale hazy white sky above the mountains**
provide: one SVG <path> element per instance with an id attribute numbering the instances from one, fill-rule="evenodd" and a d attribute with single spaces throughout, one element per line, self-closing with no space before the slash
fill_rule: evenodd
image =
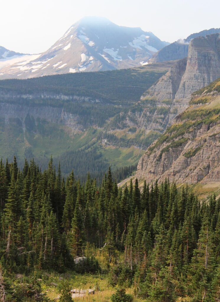
<path id="1" fill-rule="evenodd" d="M 0 45 L 21 53 L 46 51 L 84 16 L 141 27 L 168 42 L 220 27 L 219 0 L 0 0 L 0 7 Z"/>

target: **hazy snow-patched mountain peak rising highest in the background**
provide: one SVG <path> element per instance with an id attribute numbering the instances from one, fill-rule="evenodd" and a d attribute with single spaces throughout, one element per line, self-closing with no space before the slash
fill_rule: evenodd
<path id="1" fill-rule="evenodd" d="M 106 18 L 85 17 L 37 59 L 2 69 L 1 77 L 21 79 L 142 66 L 168 44 L 140 27 L 118 26 Z"/>

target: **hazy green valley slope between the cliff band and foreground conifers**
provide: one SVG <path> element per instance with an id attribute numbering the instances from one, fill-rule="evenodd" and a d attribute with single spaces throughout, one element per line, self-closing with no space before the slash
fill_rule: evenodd
<path id="1" fill-rule="evenodd" d="M 20 166 L 23 165 L 24 158 L 28 160 L 35 158 L 40 167 L 45 169 L 52 155 L 56 166 L 60 162 L 64 176 L 74 169 L 77 177 L 79 169 L 76 167 L 78 167 L 80 158 L 78 156 L 77 160 L 74 160 L 76 153 L 73 152 L 79 153 L 82 149 L 86 150 L 86 153 L 82 153 L 82 156 L 85 157 L 87 154 L 87 158 L 91 156 L 94 160 L 92 165 L 88 160 L 81 163 L 83 173 L 86 176 L 88 172 L 91 172 L 91 175 L 98 178 L 99 181 L 102 175 L 107 172 L 109 165 L 112 166 L 113 170 L 117 167 L 134 165 L 144 153 L 143 150 L 130 146 L 130 138 L 126 137 L 126 132 L 123 131 L 124 146 L 110 145 L 104 147 L 101 144 L 102 136 L 100 136 L 102 129 L 93 127 L 84 132 L 71 134 L 66 127 L 42 121 L 38 125 L 37 132 L 25 131 L 24 133 L 22 125 L 16 119 L 11 120 L 6 126 L 4 123 L 0 123 L 0 127 L 0 158 L 12 160 L 13 156 L 16 155 Z M 135 133 L 134 136 L 136 136 Z M 137 142 L 143 140 L 142 135 L 135 138 L 135 140 Z M 96 148 L 96 155 L 91 154 L 94 147 Z M 99 173 L 98 169 L 100 170 Z M 80 173 L 78 177 L 84 180 L 83 175 Z"/>

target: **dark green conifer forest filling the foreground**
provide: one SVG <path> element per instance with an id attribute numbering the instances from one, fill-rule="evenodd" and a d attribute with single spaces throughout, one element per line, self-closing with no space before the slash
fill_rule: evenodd
<path id="1" fill-rule="evenodd" d="M 34 161 L 22 170 L 16 158 L 1 161 L 0 182 L 3 301 L 49 301 L 42 286 L 56 277 L 45 270 L 70 269 L 108 274 L 108 287 L 132 287 L 138 301 L 218 301 L 219 198 L 200 203 L 187 186 L 177 191 L 167 179 L 144 182 L 142 191 L 136 179 L 122 191 L 110 169 L 99 186 L 89 175 L 81 185 L 73 172 L 64 182 L 52 159 L 44 172 Z M 92 256 L 97 248 L 100 263 Z M 86 258 L 75 263 L 75 256 Z M 61 301 L 71 301 L 68 283 L 55 280 Z"/>

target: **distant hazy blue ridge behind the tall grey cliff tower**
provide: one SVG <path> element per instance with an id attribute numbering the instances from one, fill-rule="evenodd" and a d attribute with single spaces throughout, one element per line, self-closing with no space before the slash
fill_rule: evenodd
<path id="1" fill-rule="evenodd" d="M 209 30 L 200 31 L 191 34 L 186 39 L 179 39 L 159 50 L 149 59 L 148 63 L 165 62 L 172 60 L 180 60 L 188 56 L 189 43 L 198 37 L 206 37 L 207 35 L 219 34 L 220 28 L 210 28 Z"/>

